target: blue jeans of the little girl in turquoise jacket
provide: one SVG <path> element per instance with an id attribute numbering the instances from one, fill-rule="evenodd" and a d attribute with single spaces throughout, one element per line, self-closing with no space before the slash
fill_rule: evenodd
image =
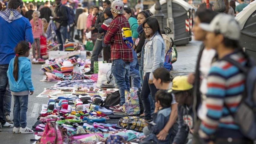
<path id="1" fill-rule="evenodd" d="M 27 126 L 27 110 L 29 95 L 13 95 L 14 108 L 13 108 L 13 123 L 14 127 L 25 128 Z"/>

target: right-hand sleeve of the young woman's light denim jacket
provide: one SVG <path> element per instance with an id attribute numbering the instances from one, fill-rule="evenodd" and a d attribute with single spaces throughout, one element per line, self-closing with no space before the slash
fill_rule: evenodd
<path id="1" fill-rule="evenodd" d="M 161 51 L 162 51 L 162 47 L 160 48 L 159 46 L 162 46 L 162 45 L 163 45 L 163 43 L 158 38 L 153 40 L 153 54 L 154 54 L 154 58 L 153 58 L 152 71 L 150 72 L 149 79 L 153 79 L 153 72 L 154 72 L 154 70 L 159 68 L 159 66 L 161 64 Z"/>

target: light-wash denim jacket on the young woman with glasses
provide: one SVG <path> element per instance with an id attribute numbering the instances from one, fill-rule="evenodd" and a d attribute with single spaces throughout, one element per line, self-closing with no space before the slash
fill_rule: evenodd
<path id="1" fill-rule="evenodd" d="M 149 79 L 153 79 L 153 72 L 163 66 L 165 43 L 162 36 L 156 32 L 151 38 L 145 40 L 141 51 L 141 70 L 144 75 L 150 72 Z"/>

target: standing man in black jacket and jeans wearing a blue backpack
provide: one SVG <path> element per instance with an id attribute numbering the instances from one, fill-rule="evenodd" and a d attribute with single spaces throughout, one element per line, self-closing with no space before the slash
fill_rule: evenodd
<path id="1" fill-rule="evenodd" d="M 56 21 L 56 35 L 58 38 L 58 42 L 61 45 L 60 51 L 63 51 L 63 44 L 67 39 L 67 26 L 68 26 L 68 10 L 67 7 L 61 4 L 61 0 L 56 0 L 56 8 L 55 13 L 56 16 L 53 17 L 53 20 Z"/>

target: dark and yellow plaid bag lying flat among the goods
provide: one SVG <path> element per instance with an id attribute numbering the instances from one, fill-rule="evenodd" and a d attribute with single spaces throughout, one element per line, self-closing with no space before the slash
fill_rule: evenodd
<path id="1" fill-rule="evenodd" d="M 118 121 L 118 125 L 125 129 L 142 131 L 142 129 L 146 126 L 146 123 L 143 121 L 142 118 L 136 116 L 127 116 L 120 118 Z"/>

